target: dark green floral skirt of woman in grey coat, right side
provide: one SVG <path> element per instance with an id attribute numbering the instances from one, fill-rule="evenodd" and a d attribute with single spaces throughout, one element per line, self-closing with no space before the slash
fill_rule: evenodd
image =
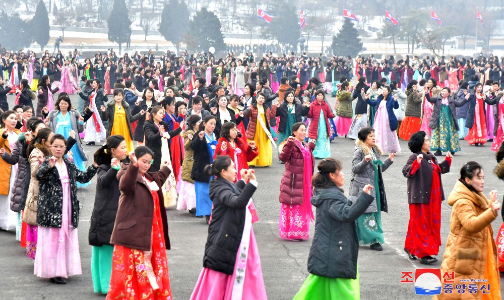
<path id="1" fill-rule="evenodd" d="M 439 113 L 439 122 L 432 130 L 430 139 L 430 150 L 432 151 L 460 151 L 459 133 L 455 130 L 455 121 L 448 105 L 442 105 Z"/>

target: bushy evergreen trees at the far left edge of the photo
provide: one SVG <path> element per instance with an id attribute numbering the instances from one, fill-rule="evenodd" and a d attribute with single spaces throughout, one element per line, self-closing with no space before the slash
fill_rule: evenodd
<path id="1" fill-rule="evenodd" d="M 0 41 L 6 49 L 22 49 L 29 47 L 33 41 L 28 32 L 28 24 L 19 17 L 19 13 L 0 11 Z M 15 37 L 15 38 L 14 38 Z"/>

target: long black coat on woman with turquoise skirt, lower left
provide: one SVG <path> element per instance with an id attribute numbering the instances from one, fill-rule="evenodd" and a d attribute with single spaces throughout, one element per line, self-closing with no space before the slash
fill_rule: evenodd
<path id="1" fill-rule="evenodd" d="M 121 195 L 117 171 L 110 167 L 110 164 L 101 164 L 98 167 L 95 202 L 88 236 L 91 246 L 110 245 Z"/>

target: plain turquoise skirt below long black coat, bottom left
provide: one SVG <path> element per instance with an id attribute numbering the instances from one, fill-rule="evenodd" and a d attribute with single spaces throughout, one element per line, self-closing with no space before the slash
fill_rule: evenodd
<path id="1" fill-rule="evenodd" d="M 93 276 L 93 287 L 95 293 L 107 294 L 110 284 L 110 273 L 112 272 L 113 246 L 104 245 L 93 246 L 91 252 L 91 275 Z"/>

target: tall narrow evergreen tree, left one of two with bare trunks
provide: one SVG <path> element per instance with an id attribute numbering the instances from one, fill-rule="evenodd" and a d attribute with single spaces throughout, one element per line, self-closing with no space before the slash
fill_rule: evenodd
<path id="1" fill-rule="evenodd" d="M 124 0 L 114 0 L 112 11 L 108 17 L 108 40 L 119 44 L 119 54 L 122 43 L 131 36 L 131 21 Z"/>

